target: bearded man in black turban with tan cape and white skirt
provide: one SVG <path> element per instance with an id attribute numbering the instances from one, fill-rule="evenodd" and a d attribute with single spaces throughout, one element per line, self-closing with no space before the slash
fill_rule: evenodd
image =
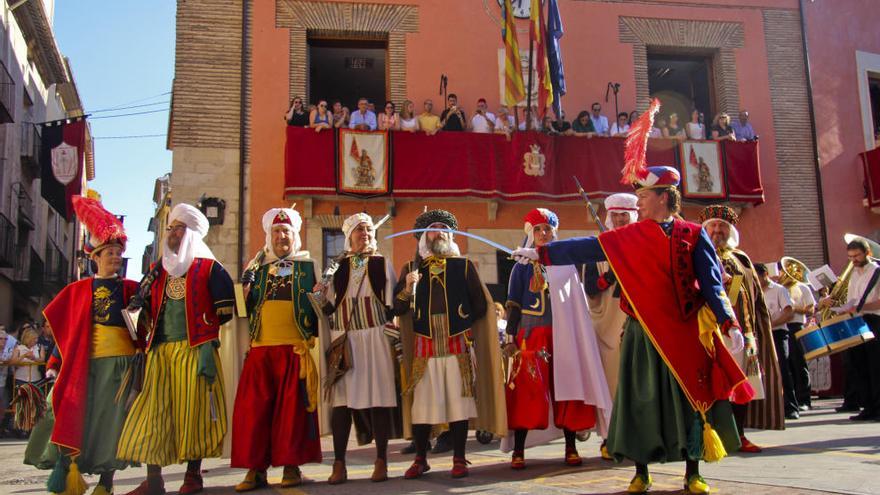
<path id="1" fill-rule="evenodd" d="M 415 224 L 416 229 L 452 230 L 457 225 L 445 210 L 422 213 Z M 491 296 L 451 233 L 420 232 L 416 237 L 416 258 L 394 290 L 404 353 L 404 429 L 411 424 L 416 442 L 415 461 L 404 477 L 419 478 L 430 469 L 431 428 L 448 424 L 451 475 L 462 478 L 468 475 L 468 420 L 475 420 L 474 429 L 498 435 L 507 431 L 495 312 L 487 311 Z"/>

